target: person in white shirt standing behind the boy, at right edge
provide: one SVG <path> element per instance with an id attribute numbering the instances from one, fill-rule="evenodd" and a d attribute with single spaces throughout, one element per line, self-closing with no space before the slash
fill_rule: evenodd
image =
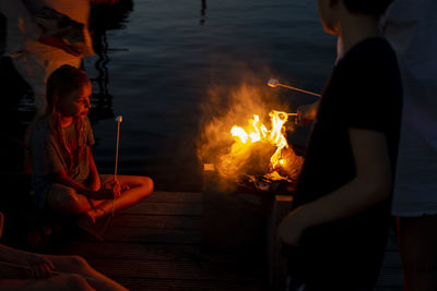
<path id="1" fill-rule="evenodd" d="M 436 11 L 434 0 L 395 0 L 382 22 L 404 89 L 392 214 L 409 291 L 437 290 Z"/>

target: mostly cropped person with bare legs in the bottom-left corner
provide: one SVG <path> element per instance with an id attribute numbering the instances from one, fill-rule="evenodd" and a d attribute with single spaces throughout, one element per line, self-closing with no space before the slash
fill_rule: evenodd
<path id="1" fill-rule="evenodd" d="M 0 239 L 3 228 L 0 213 Z M 0 244 L 0 289 L 32 290 L 127 290 L 93 269 L 80 256 L 55 256 L 24 252 Z"/>

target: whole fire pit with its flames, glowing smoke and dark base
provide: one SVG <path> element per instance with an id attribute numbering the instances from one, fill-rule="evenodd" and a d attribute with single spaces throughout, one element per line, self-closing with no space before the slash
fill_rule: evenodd
<path id="1" fill-rule="evenodd" d="M 204 165 L 204 251 L 234 253 L 269 265 L 270 282 L 283 270 L 275 228 L 291 208 L 305 148 L 288 145 L 297 113 L 274 101 L 272 90 L 241 85 L 213 90 L 198 156 Z M 217 107 L 226 96 L 231 101 Z M 221 112 L 214 112 L 222 108 Z M 281 109 L 281 110 L 277 110 Z"/>

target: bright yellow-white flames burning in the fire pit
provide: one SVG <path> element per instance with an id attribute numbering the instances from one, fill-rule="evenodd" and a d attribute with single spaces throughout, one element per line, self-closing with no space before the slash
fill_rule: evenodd
<path id="1" fill-rule="evenodd" d="M 236 138 L 233 147 L 238 149 L 235 151 L 244 151 L 245 146 L 250 146 L 253 143 L 265 141 L 276 146 L 275 153 L 270 158 L 270 165 L 274 169 L 277 166 L 285 165 L 285 160 L 281 157 L 281 151 L 288 147 L 285 137 L 284 124 L 288 120 L 288 113 L 283 111 L 272 110 L 269 113 L 271 119 L 271 130 L 269 131 L 264 124 L 261 123 L 259 116 L 253 114 L 253 119 L 249 119 L 249 125 L 246 129 L 234 125 L 231 129 L 232 136 Z"/>

